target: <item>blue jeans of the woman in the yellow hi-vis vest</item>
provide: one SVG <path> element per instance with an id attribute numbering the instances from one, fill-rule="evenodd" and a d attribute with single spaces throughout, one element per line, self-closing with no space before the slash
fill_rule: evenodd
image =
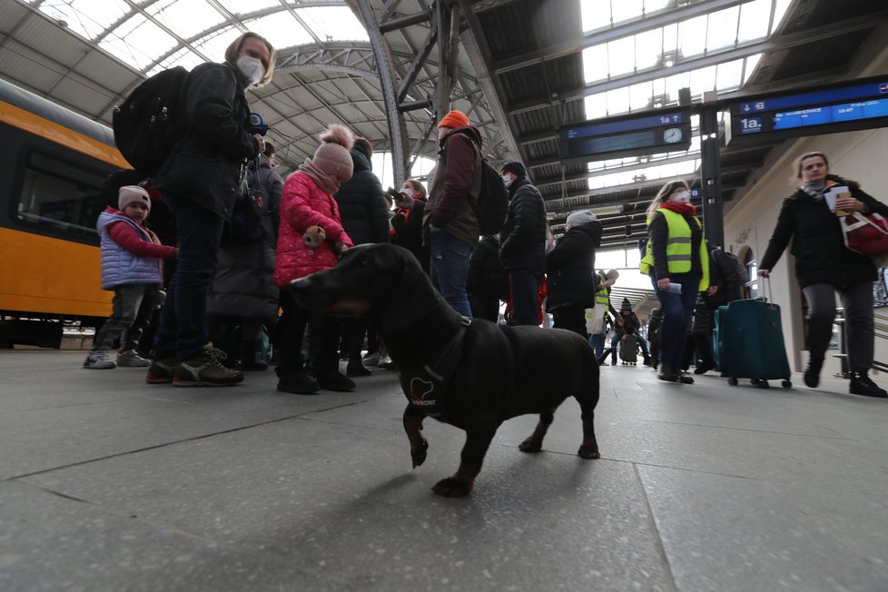
<path id="1" fill-rule="evenodd" d="M 700 283 L 700 278 L 682 274 L 681 277 L 676 275 L 675 278 L 669 279 L 682 285 L 680 294 L 660 290 L 656 287 L 656 278 L 651 276 L 656 300 L 660 301 L 660 311 L 663 313 L 663 322 L 657 333 L 660 342 L 659 355 L 660 361 L 668 364 L 669 370 L 680 372 L 691 319 L 694 318 L 694 305 L 698 293 L 696 287 Z"/>

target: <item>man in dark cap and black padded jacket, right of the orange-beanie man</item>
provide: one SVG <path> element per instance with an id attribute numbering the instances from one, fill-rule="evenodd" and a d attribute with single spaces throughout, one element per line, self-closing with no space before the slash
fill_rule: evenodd
<path id="1" fill-rule="evenodd" d="M 521 163 L 499 173 L 508 188 L 508 212 L 499 233 L 499 261 L 508 272 L 514 324 L 538 325 L 537 292 L 546 271 L 546 205 Z"/>

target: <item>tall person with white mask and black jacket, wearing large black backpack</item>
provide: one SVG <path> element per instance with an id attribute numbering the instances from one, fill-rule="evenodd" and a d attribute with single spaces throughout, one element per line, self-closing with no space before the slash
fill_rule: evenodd
<path id="1" fill-rule="evenodd" d="M 271 44 L 248 32 L 228 46 L 224 63 L 198 65 L 185 80 L 185 137 L 152 180 L 173 211 L 179 261 L 161 312 L 147 382 L 226 386 L 243 380 L 241 372 L 219 363 L 219 350 L 207 340 L 207 292 L 245 163 L 265 149 L 264 138 L 248 131 L 244 93 L 268 83 L 273 65 Z"/>

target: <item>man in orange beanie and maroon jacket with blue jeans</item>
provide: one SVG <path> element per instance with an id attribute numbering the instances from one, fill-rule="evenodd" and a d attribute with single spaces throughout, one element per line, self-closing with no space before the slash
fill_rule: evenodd
<path id="1" fill-rule="evenodd" d="M 471 318 L 466 278 L 469 255 L 478 244 L 478 218 L 470 193 L 480 187 L 481 134 L 461 111 L 438 124 L 438 166 L 429 183 L 422 215 L 423 242 L 429 245 L 429 276 L 453 310 Z"/>

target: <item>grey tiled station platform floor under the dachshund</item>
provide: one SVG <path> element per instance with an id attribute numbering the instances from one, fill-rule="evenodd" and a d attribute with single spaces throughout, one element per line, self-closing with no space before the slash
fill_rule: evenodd
<path id="1" fill-rule="evenodd" d="M 397 375 L 351 393 L 147 385 L 0 352 L 0 590 L 886 590 L 888 402 L 602 368 L 600 460 L 567 400 L 499 429 L 475 489 L 411 469 Z M 710 373 L 711 374 L 711 373 Z M 877 377 L 883 384 L 884 375 Z"/>

